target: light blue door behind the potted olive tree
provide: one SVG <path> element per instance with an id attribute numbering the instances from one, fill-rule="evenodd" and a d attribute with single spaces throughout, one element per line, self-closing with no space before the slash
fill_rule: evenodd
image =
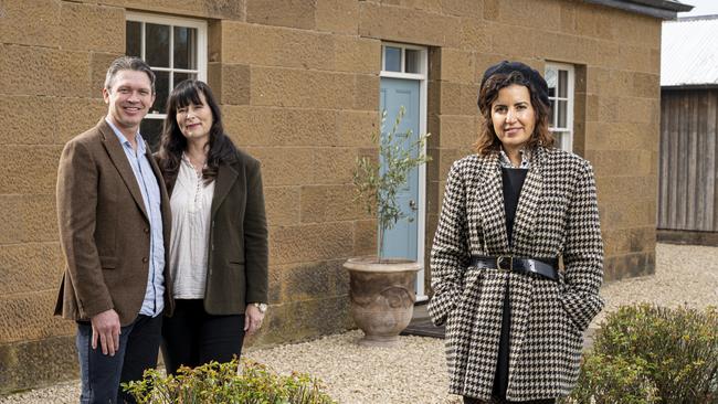
<path id="1" fill-rule="evenodd" d="M 397 130 L 398 134 L 412 131 L 412 141 L 419 137 L 419 81 L 402 78 L 381 78 L 381 96 L 379 108 L 387 110 L 384 134 L 391 130 L 399 109 L 403 106 L 404 117 Z M 384 135 L 382 134 L 382 136 Z M 406 141 L 409 143 L 409 141 Z M 419 168 L 415 168 L 408 178 L 405 187 L 399 192 L 399 206 L 408 215 L 400 220 L 394 228 L 384 234 L 383 252 L 386 257 L 418 259 L 418 228 L 419 228 Z"/>

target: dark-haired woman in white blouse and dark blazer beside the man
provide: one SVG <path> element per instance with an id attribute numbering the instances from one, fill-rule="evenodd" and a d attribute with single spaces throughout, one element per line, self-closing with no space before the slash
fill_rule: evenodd
<path id="1" fill-rule="evenodd" d="M 224 134 L 210 87 L 175 87 L 157 160 L 172 210 L 176 309 L 162 326 L 167 372 L 242 352 L 267 302 L 267 227 L 260 162 Z"/>

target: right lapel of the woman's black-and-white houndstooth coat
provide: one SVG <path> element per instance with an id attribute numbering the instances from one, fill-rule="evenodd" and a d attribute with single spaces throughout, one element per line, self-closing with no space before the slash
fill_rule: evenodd
<path id="1" fill-rule="evenodd" d="M 543 190 L 543 178 L 541 176 L 541 148 L 537 148 L 531 161 L 531 167 L 526 174 L 524 187 L 516 208 L 514 220 L 514 252 L 520 255 L 532 255 L 530 251 L 531 231 L 536 222 L 538 203 Z"/>

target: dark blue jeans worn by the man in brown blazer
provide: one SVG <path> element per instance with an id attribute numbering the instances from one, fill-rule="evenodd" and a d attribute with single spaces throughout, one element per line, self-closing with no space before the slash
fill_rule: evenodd
<path id="1" fill-rule="evenodd" d="M 77 357 L 82 379 L 82 404 L 135 403 L 120 392 L 120 383 L 141 380 L 146 369 L 157 366 L 162 316 L 137 316 L 135 321 L 120 329 L 119 350 L 114 357 L 103 354 L 99 341 L 92 349 L 92 326 L 77 322 Z"/>

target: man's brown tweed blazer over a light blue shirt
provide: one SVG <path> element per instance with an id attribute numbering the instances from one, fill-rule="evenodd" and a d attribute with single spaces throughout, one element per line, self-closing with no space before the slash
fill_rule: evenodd
<path id="1" fill-rule="evenodd" d="M 171 231 L 169 198 L 157 163 L 148 159 L 161 193 L 165 262 Z M 60 243 L 66 259 L 55 315 L 73 320 L 115 309 L 127 326 L 145 299 L 149 272 L 149 219 L 123 146 L 103 118 L 70 140 L 57 169 Z M 171 278 L 165 274 L 165 312 L 171 313 Z"/>

